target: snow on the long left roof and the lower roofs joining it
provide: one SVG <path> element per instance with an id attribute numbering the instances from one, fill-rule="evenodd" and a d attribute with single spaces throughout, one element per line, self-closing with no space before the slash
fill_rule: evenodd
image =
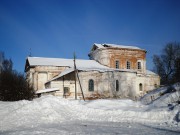
<path id="1" fill-rule="evenodd" d="M 63 76 L 74 70 L 74 61 L 73 59 L 62 59 L 62 58 L 44 58 L 44 57 L 28 57 L 27 58 L 30 66 L 62 66 L 62 67 L 69 67 L 63 71 L 59 76 Z M 109 68 L 107 66 L 101 65 L 100 63 L 96 62 L 95 60 L 76 60 L 76 67 L 78 70 L 81 71 L 99 71 L 99 72 L 106 72 L 106 71 L 122 71 L 122 72 L 136 72 L 135 70 L 130 69 L 114 69 Z M 53 78 L 54 79 L 54 78 Z"/>

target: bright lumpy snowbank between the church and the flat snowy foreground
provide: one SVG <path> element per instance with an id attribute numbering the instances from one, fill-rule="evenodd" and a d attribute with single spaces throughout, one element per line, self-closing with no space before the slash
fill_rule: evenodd
<path id="1" fill-rule="evenodd" d="M 127 99 L 84 102 L 44 96 L 33 101 L 0 102 L 0 131 L 70 121 L 166 123 L 180 126 L 174 121 L 175 117 L 180 117 L 179 108 L 152 108 Z"/>

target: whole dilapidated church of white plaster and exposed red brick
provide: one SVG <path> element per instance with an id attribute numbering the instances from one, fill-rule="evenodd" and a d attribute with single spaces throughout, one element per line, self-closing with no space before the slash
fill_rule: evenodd
<path id="1" fill-rule="evenodd" d="M 138 98 L 160 85 L 157 74 L 146 69 L 146 50 L 134 46 L 94 44 L 91 60 L 76 60 L 85 98 Z M 59 88 L 58 96 L 75 96 L 73 59 L 28 57 L 27 80 L 36 91 Z M 82 97 L 79 81 L 77 95 Z"/>

